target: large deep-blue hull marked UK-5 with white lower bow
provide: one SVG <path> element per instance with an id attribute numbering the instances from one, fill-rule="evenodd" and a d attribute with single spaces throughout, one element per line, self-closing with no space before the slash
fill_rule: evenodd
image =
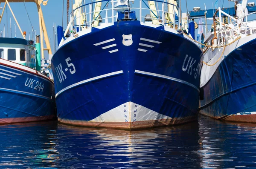
<path id="1" fill-rule="evenodd" d="M 165 29 L 115 22 L 61 46 L 52 57 L 58 121 L 138 129 L 196 120 L 202 52 Z"/>

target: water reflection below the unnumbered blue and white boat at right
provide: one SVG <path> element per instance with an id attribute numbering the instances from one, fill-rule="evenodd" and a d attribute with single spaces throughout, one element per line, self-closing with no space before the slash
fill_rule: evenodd
<path id="1" fill-rule="evenodd" d="M 255 168 L 256 124 L 199 119 L 200 168 Z"/>

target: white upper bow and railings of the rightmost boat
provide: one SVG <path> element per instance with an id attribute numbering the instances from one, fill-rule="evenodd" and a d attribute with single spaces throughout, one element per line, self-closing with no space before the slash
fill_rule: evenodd
<path id="1" fill-rule="evenodd" d="M 219 7 L 213 16 L 213 28 L 204 38 L 204 64 L 201 86 L 215 73 L 221 61 L 239 46 L 256 38 L 256 19 L 249 20 L 256 12 L 248 14 L 247 0 L 238 3 L 237 17 L 230 16 Z M 211 47 L 209 47 L 211 46 Z"/>

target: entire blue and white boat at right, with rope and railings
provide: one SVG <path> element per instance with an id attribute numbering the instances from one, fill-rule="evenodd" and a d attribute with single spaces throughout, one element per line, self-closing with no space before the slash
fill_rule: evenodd
<path id="1" fill-rule="evenodd" d="M 216 120 L 256 123 L 256 12 L 248 14 L 247 0 L 236 6 L 235 17 L 220 8 L 213 15 L 213 30 L 205 38 L 199 109 Z"/>

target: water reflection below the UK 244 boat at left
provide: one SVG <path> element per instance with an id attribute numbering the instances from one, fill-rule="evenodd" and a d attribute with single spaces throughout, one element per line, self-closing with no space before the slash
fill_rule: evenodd
<path id="1" fill-rule="evenodd" d="M 55 169 L 56 127 L 55 121 L 0 126 L 0 169 Z"/>

